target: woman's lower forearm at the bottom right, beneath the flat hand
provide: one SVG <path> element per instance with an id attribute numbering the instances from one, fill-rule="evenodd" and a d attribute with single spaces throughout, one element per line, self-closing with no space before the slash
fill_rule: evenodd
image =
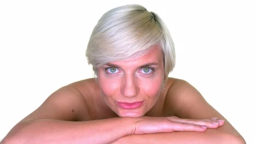
<path id="1" fill-rule="evenodd" d="M 204 132 L 196 131 L 176 131 L 173 133 L 157 133 L 128 135 L 113 142 L 117 143 L 234 143 L 245 144 L 245 140 L 240 135 L 223 133 L 221 129 L 208 129 Z"/>

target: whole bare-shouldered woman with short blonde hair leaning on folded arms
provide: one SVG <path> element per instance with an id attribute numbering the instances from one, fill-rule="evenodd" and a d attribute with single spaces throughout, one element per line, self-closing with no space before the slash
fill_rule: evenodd
<path id="1" fill-rule="evenodd" d="M 168 77 L 171 36 L 141 5 L 104 14 L 86 56 L 96 78 L 58 89 L 2 143 L 245 143 L 193 86 Z"/>

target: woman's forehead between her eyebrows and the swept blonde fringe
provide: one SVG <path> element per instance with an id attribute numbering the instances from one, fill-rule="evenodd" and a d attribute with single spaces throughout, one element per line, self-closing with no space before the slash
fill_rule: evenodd
<path id="1" fill-rule="evenodd" d="M 149 51 L 141 57 L 127 59 L 124 61 L 109 62 L 111 64 L 129 65 L 129 64 L 145 64 L 145 63 L 162 63 L 162 51 L 159 45 L 149 48 Z"/>

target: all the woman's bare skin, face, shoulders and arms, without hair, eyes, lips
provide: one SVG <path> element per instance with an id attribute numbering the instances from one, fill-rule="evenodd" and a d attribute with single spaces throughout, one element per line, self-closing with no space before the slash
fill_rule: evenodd
<path id="1" fill-rule="evenodd" d="M 153 47 L 141 58 L 103 65 L 98 79 L 51 94 L 1 143 L 245 143 L 188 82 L 168 77 L 162 85 L 161 59 Z M 124 101 L 143 102 L 126 109 Z"/>

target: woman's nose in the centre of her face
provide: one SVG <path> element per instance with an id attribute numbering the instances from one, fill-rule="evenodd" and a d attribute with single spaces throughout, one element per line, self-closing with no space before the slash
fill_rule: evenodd
<path id="1" fill-rule="evenodd" d="M 133 75 L 125 75 L 122 86 L 121 86 L 121 94 L 125 97 L 135 97 L 139 92 L 139 87 L 137 85 L 137 79 Z"/>

